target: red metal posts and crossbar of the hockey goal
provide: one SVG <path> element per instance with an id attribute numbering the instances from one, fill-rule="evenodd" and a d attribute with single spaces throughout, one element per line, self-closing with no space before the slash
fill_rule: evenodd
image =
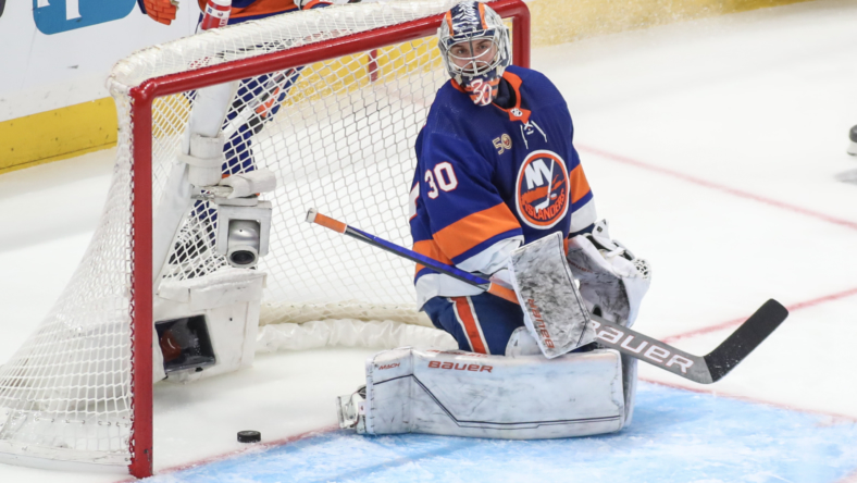
<path id="1" fill-rule="evenodd" d="M 490 2 L 501 17 L 512 21 L 512 59 L 530 66 L 530 10 L 522 0 Z M 436 34 L 443 14 L 405 24 L 297 47 L 252 59 L 150 78 L 129 89 L 133 141 L 132 250 L 132 399 L 133 425 L 128 471 L 152 475 L 152 106 L 157 98 L 200 87 L 239 81 Z"/>

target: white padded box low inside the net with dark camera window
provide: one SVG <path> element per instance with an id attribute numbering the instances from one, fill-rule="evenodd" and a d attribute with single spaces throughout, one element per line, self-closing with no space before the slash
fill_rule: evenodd
<path id="1" fill-rule="evenodd" d="M 162 282 L 154 297 L 153 381 L 187 383 L 252 366 L 264 282 L 264 272 L 229 267 Z"/>

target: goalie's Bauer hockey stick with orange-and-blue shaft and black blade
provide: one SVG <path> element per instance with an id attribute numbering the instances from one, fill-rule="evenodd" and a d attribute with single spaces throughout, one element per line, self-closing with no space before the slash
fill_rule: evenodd
<path id="1" fill-rule="evenodd" d="M 459 270 L 455 267 L 440 263 L 434 259 L 417 253 L 405 247 L 378 238 L 369 233 L 357 230 L 352 226 L 327 218 L 314 209 L 307 213 L 307 222 L 322 225 L 378 247 L 383 250 L 396 253 L 408 260 L 430 267 L 437 272 L 452 276 L 464 283 L 486 289 L 488 293 L 501 297 L 506 300 L 518 304 L 518 297 L 513 290 L 492 284 L 489 281 Z M 705 356 L 694 356 L 676 349 L 669 344 L 641 334 L 631 329 L 619 325 L 614 322 L 605 320 L 597 315 L 591 315 L 595 325 L 598 344 L 611 349 L 619 350 L 633 358 L 648 362 L 651 366 L 672 372 L 684 379 L 700 383 L 711 384 L 720 381 L 742 360 L 744 360 L 759 344 L 762 343 L 788 315 L 788 311 L 777 300 L 770 299 L 765 302 L 756 313 L 750 315 L 735 332 L 726 337 L 715 350 Z"/>

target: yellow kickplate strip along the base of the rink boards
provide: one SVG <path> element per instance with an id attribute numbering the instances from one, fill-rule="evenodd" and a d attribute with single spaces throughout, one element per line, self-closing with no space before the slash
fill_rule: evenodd
<path id="1" fill-rule="evenodd" d="M 541 47 L 803 1 L 807 0 L 534 0 L 527 5 L 532 13 L 533 46 Z M 380 49 L 378 69 L 385 72 L 397 63 L 413 61 L 425 49 L 433 47 L 434 40 L 428 39 L 401 51 L 395 48 Z M 316 69 L 308 69 L 293 87 L 293 90 L 297 90 L 293 92 L 297 97 L 293 97 L 300 100 L 323 94 L 324 88 L 330 89 L 331 86 L 314 82 L 315 77 L 324 77 L 325 73 L 339 75 L 345 64 L 353 61 L 355 57 L 351 55 L 327 61 L 323 67 L 322 64 L 313 65 Z M 313 76 L 310 72 L 316 74 Z M 369 82 L 364 74 L 362 70 L 355 74 L 359 77 L 356 77 L 356 84 Z M 187 99 L 177 95 L 156 102 L 184 104 Z M 289 102 L 287 100 L 284 108 L 287 109 Z M 187 112 L 187 109 L 173 109 L 170 112 Z M 175 128 L 171 123 L 162 127 L 167 131 Z M 116 145 L 116 110 L 111 98 L 0 122 L 0 174 L 111 148 Z M 152 134 L 158 137 L 171 133 Z"/>

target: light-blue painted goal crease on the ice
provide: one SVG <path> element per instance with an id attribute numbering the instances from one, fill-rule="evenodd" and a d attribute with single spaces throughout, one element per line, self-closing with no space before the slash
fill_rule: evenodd
<path id="1" fill-rule="evenodd" d="M 836 482 L 857 423 L 641 383 L 619 433 L 498 441 L 326 433 L 170 474 L 178 482 Z"/>

